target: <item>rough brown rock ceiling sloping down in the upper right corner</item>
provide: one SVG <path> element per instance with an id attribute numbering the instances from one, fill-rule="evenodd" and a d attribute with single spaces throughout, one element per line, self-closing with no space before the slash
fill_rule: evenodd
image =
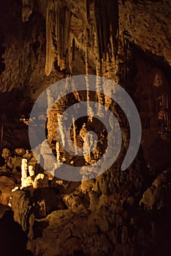
<path id="1" fill-rule="evenodd" d="M 171 64 L 170 1 L 118 1 L 121 31 L 129 42 Z"/>

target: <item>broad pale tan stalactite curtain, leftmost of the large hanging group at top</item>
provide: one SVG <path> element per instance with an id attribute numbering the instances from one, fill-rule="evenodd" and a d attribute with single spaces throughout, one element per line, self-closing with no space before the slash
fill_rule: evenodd
<path id="1" fill-rule="evenodd" d="M 70 24 L 71 12 L 66 5 L 62 1 L 47 1 L 45 63 L 47 76 L 53 70 L 54 61 L 58 62 L 61 70 L 69 65 Z"/>

